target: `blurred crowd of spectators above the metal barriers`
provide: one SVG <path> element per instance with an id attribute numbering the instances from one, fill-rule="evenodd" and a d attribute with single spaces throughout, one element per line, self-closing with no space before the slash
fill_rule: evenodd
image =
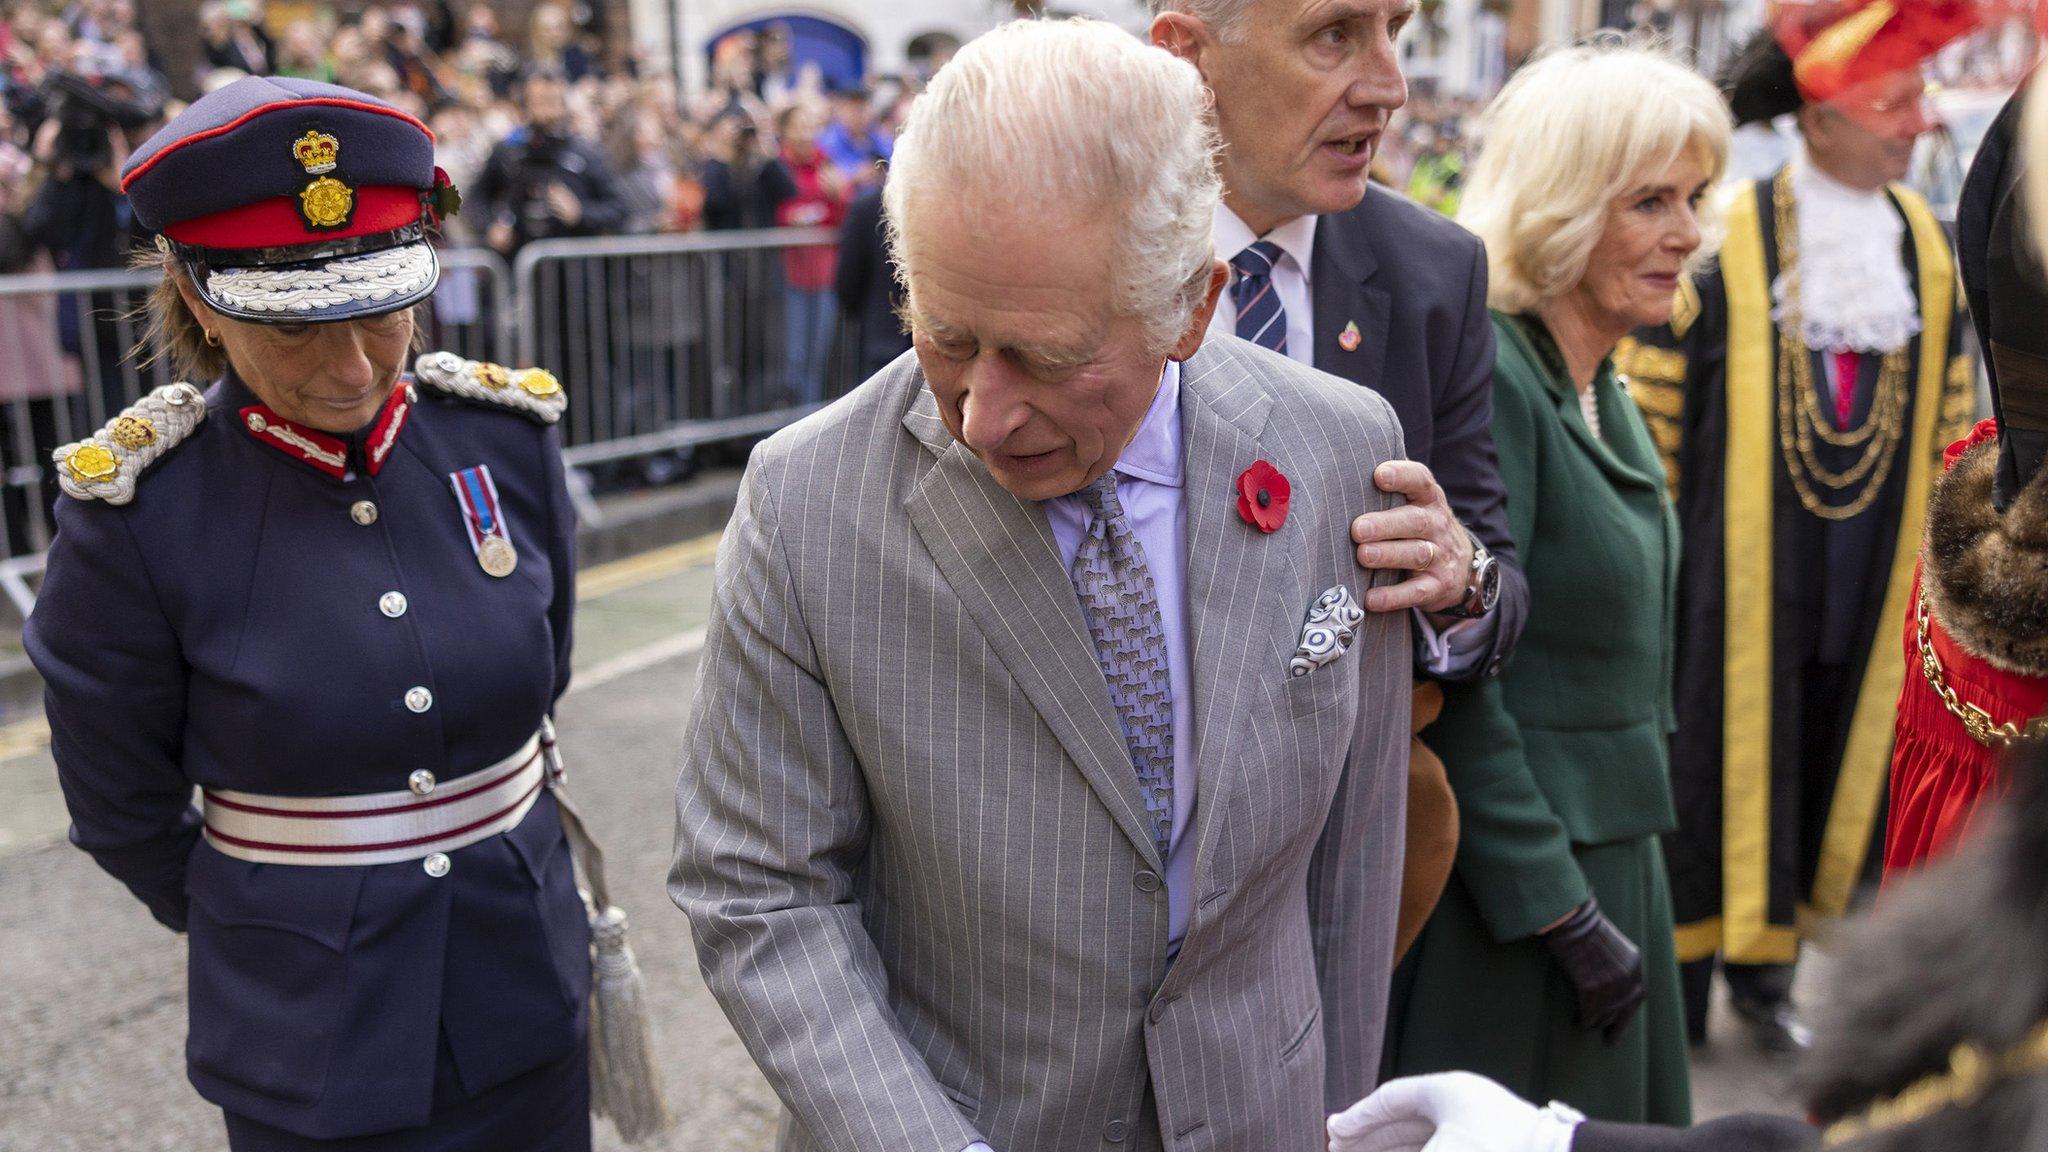
<path id="1" fill-rule="evenodd" d="M 592 20 L 596 8 L 545 2 L 514 33 L 485 2 L 397 0 L 274 29 L 256 0 L 215 0 L 201 8 L 199 68 L 172 84 L 133 0 L 14 0 L 0 8 L 0 271 L 39 250 L 59 269 L 121 262 L 115 174 L 178 111 L 174 88 L 274 74 L 403 107 L 471 193 L 451 242 L 510 254 L 547 236 L 831 223 L 879 182 L 918 84 L 829 86 L 768 25 L 725 37 L 709 84 L 678 92 L 668 70 L 606 53 Z"/>

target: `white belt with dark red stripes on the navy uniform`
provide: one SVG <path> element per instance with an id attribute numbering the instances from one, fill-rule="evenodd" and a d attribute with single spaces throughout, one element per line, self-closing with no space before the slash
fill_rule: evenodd
<path id="1" fill-rule="evenodd" d="M 440 781 L 434 791 L 369 795 L 258 795 L 205 789 L 207 842 L 252 863 L 379 865 L 453 853 L 510 832 L 547 783 L 537 732 L 496 765 Z"/>

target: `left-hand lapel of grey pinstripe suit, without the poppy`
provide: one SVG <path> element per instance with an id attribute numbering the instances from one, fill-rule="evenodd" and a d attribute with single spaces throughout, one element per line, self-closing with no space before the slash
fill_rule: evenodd
<path id="1" fill-rule="evenodd" d="M 1032 707 L 1081 769 L 1104 808 L 1151 867 L 1163 867 L 1145 816 L 1130 748 L 1110 705 L 1096 642 L 1087 635 L 1073 582 L 1044 508 L 1006 492 L 965 445 L 946 433 L 920 373 L 903 428 L 938 463 L 905 498 L 909 523 L 940 576 L 975 619 Z"/>

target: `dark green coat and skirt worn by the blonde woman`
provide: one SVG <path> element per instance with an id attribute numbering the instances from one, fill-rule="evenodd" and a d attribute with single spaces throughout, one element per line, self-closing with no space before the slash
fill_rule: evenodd
<path id="1" fill-rule="evenodd" d="M 1458 795 L 1452 883 L 1395 980 L 1395 1074 L 1466 1068 L 1599 1119 L 1686 1123 L 1683 1013 L 1657 836 L 1677 523 L 1663 465 L 1612 363 L 1593 381 L 1604 439 L 1534 318 L 1493 316 L 1493 439 L 1530 580 L 1530 621 L 1497 678 L 1446 689 L 1423 740 Z M 1616 1047 L 1573 1025 L 1536 933 L 1597 896 L 1642 949 L 1651 998 Z"/>

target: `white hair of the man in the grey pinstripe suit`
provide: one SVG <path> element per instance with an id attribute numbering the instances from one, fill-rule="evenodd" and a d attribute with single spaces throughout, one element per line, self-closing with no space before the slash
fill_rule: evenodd
<path id="1" fill-rule="evenodd" d="M 1223 187 L 1206 111 L 1190 64 L 1102 20 L 1014 20 L 969 41 L 895 143 L 883 207 L 897 279 L 909 287 L 913 203 L 1112 217 L 1112 307 L 1145 322 L 1151 351 L 1171 348 L 1214 260 Z"/>

